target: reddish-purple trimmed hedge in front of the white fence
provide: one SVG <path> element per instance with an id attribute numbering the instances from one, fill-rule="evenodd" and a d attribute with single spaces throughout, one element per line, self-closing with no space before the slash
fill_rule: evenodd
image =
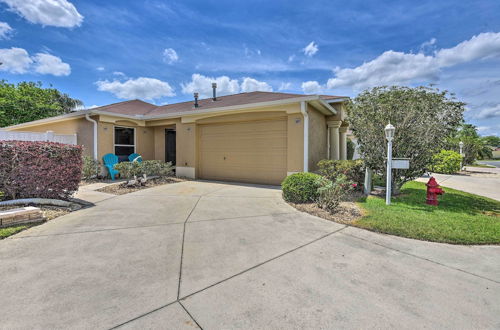
<path id="1" fill-rule="evenodd" d="M 67 199 L 82 177 L 80 146 L 0 141 L 0 190 L 12 199 Z"/>

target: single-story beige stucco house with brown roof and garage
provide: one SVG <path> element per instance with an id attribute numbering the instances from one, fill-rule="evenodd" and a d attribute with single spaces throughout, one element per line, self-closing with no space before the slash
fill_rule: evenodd
<path id="1" fill-rule="evenodd" d="M 96 159 L 137 152 L 172 161 L 178 176 L 279 184 L 321 159 L 346 159 L 346 100 L 271 92 L 163 106 L 132 100 L 4 129 L 76 134 Z"/>

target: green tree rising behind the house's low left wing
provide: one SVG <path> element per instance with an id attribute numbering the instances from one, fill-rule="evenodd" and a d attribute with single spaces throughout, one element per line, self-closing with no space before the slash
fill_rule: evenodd
<path id="1" fill-rule="evenodd" d="M 83 103 L 41 82 L 0 81 L 0 127 L 62 115 Z"/>

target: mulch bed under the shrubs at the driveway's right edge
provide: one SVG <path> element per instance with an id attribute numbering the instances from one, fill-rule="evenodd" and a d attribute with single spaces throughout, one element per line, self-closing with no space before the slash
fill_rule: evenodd
<path id="1" fill-rule="evenodd" d="M 363 216 L 363 211 L 356 204 L 356 201 L 362 195 L 363 194 L 361 192 L 355 192 L 349 195 L 345 201 L 340 202 L 340 205 L 335 211 L 335 213 L 330 213 L 320 208 L 316 203 L 303 203 L 303 204 L 288 203 L 288 204 L 295 207 L 299 211 L 309 213 L 319 218 L 323 218 L 326 220 L 342 224 L 351 224 Z"/>

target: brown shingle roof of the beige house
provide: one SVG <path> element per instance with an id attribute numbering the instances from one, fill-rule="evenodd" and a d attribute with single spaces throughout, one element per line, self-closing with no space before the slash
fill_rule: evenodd
<path id="1" fill-rule="evenodd" d="M 199 111 L 205 109 L 238 106 L 251 103 L 279 101 L 279 100 L 285 100 L 303 96 L 312 96 L 312 95 L 275 93 L 275 92 L 239 93 L 226 96 L 218 96 L 217 101 L 215 102 L 212 101 L 212 98 L 200 99 L 198 100 L 199 104 L 198 108 L 194 108 L 194 100 L 174 103 L 174 104 L 167 104 L 162 106 L 156 106 L 154 104 L 150 104 L 141 100 L 131 100 L 131 101 L 113 103 L 110 105 L 94 108 L 92 110 L 113 112 L 123 115 L 158 116 L 170 113 Z M 343 98 L 343 96 L 321 95 L 321 98 L 329 100 L 335 98 Z"/>

